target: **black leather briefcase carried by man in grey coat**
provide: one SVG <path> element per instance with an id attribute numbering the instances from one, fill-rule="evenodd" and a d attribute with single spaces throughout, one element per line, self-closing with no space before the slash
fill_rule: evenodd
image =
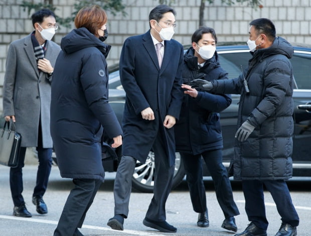
<path id="1" fill-rule="evenodd" d="M 0 164 L 16 167 L 19 162 L 19 153 L 22 136 L 16 132 L 15 124 L 10 120 L 0 130 Z"/>

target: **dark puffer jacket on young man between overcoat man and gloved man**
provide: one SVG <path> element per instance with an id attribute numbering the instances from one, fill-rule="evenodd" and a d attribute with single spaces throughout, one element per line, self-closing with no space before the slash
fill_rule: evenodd
<path id="1" fill-rule="evenodd" d="M 188 49 L 184 59 L 183 83 L 188 84 L 196 78 L 227 79 L 227 76 L 228 73 L 220 67 L 217 52 L 198 69 L 198 58 L 194 56 L 194 49 Z M 176 150 L 197 155 L 223 148 L 218 112 L 230 104 L 231 98 L 225 94 L 198 91 L 196 98 L 184 94 L 180 119 L 175 125 Z"/>

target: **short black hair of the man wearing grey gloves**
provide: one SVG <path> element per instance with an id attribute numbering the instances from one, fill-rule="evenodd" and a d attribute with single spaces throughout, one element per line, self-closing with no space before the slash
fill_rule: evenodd
<path id="1" fill-rule="evenodd" d="M 275 38 L 275 26 L 271 20 L 267 18 L 259 18 L 249 23 L 249 26 L 254 26 L 257 35 L 265 34 L 271 41 Z"/>

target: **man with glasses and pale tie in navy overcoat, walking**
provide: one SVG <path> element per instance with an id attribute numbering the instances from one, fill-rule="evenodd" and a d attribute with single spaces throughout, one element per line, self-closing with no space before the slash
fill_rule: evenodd
<path id="1" fill-rule="evenodd" d="M 174 9 L 159 5 L 149 14 L 150 29 L 123 44 L 120 79 L 126 99 L 122 158 L 114 182 L 114 217 L 107 223 L 113 229 L 123 230 L 136 161 L 145 163 L 152 149 L 154 195 L 143 224 L 163 232 L 177 231 L 166 221 L 165 211 L 175 167 L 174 125 L 183 97 L 184 52 L 182 45 L 172 39 L 175 15 Z"/>

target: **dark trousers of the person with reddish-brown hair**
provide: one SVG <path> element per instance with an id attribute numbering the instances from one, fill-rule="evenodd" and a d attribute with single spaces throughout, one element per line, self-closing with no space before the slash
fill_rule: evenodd
<path id="1" fill-rule="evenodd" d="M 65 203 L 63 212 L 54 231 L 54 236 L 80 235 L 86 212 L 90 208 L 102 181 L 99 179 L 73 179 L 75 187 Z"/>

